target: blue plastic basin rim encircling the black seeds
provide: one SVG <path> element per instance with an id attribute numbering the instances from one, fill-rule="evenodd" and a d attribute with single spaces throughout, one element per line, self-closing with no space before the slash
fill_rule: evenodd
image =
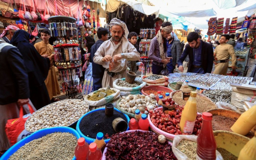
<path id="1" fill-rule="evenodd" d="M 90 114 L 90 113 L 97 112 L 97 111 L 99 111 L 99 110 L 105 110 L 105 108 L 98 108 L 98 109 L 92 110 L 92 111 L 90 111 L 90 112 L 87 112 L 87 113 L 86 113 L 85 115 L 83 115 L 83 116 L 78 120 L 78 122 L 77 122 L 77 132 L 80 134 L 81 137 L 84 137 L 84 138 L 85 138 L 85 141 L 86 141 L 88 144 L 93 143 L 93 142 L 95 141 L 95 139 L 85 136 L 85 135 L 80 131 L 80 127 L 79 127 L 79 126 L 80 126 L 80 122 L 81 122 L 81 120 L 83 119 L 83 117 L 87 116 L 87 115 Z M 114 108 L 114 110 L 116 110 L 117 112 L 120 112 L 117 108 Z M 121 113 L 121 112 L 120 112 L 120 113 Z M 127 119 L 127 124 L 128 124 L 129 121 L 130 121 L 130 118 L 129 118 L 126 114 L 123 114 L 123 115 L 125 115 L 125 117 L 126 117 L 126 119 Z M 128 131 L 128 130 L 129 130 L 129 127 L 127 127 L 127 130 L 126 130 L 126 131 Z M 105 143 L 107 143 L 107 142 L 110 141 L 110 139 L 106 139 L 106 140 L 104 140 L 104 141 L 105 141 Z"/>

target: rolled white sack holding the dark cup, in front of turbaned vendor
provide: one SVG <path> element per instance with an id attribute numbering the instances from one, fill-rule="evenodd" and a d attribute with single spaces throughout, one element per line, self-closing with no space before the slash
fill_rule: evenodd
<path id="1" fill-rule="evenodd" d="M 116 79 L 113 82 L 113 88 L 120 90 L 120 96 L 141 94 L 141 89 L 146 86 L 146 83 L 143 82 L 141 84 L 138 84 L 137 87 L 121 87 L 118 86 L 119 81 L 125 81 L 125 78 Z"/>

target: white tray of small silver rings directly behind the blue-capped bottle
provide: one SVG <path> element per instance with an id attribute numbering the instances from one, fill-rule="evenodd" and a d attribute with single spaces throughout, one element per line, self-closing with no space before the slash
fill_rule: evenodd
<path id="1" fill-rule="evenodd" d="M 189 84 L 192 85 L 197 85 L 197 86 L 202 86 L 202 87 L 211 87 L 215 83 L 217 83 L 219 79 L 214 78 L 214 77 L 199 77 L 198 79 L 194 79 L 189 81 Z"/>

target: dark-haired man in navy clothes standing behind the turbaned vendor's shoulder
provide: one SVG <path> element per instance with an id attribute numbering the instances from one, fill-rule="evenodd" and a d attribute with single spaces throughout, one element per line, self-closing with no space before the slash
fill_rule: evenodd
<path id="1" fill-rule="evenodd" d="M 106 28 L 99 27 L 97 29 L 97 36 L 99 39 L 93 46 L 91 46 L 90 62 L 93 65 L 93 91 L 102 88 L 102 79 L 105 72 L 105 68 L 102 65 L 93 62 L 93 57 L 99 46 L 101 46 L 104 41 L 107 41 L 107 34 L 109 34 L 109 31 Z"/>

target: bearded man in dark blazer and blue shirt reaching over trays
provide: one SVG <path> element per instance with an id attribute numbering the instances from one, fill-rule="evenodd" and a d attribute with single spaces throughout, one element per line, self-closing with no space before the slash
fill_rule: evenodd
<path id="1" fill-rule="evenodd" d="M 187 35 L 187 42 L 181 58 L 178 61 L 179 70 L 183 72 L 183 61 L 189 55 L 189 67 L 187 72 L 192 73 L 211 73 L 213 69 L 213 45 L 199 39 L 197 32 Z"/>

